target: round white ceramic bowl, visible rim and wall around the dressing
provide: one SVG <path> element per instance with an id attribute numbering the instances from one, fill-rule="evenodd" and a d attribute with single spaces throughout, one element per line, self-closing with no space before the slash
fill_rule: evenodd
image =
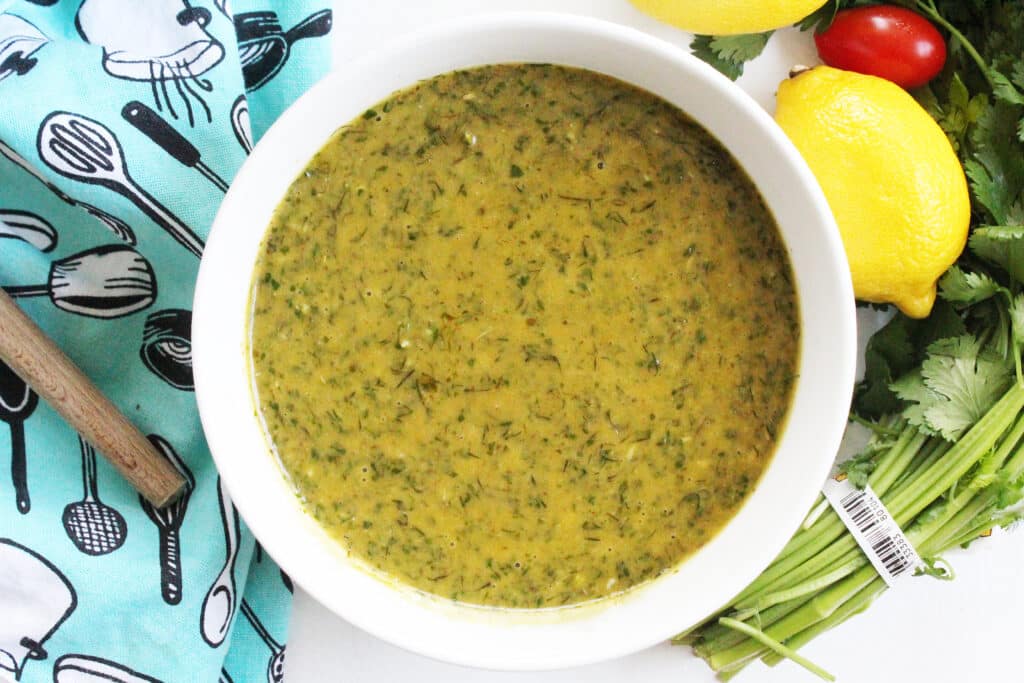
<path id="1" fill-rule="evenodd" d="M 777 453 L 739 513 L 673 573 L 596 605 L 481 608 L 427 596 L 356 566 L 303 511 L 270 455 L 247 355 L 251 273 L 291 181 L 332 132 L 419 79 L 503 61 L 583 67 L 677 104 L 728 147 L 761 189 L 800 296 L 800 379 Z M 489 669 L 537 670 L 634 652 L 695 624 L 782 548 L 827 475 L 855 366 L 853 294 L 839 232 L 814 177 L 771 118 L 683 50 L 578 16 L 501 14 L 430 29 L 338 71 L 266 133 L 231 184 L 207 244 L 193 315 L 196 390 L 211 451 L 263 547 L 352 624 L 410 650 Z"/>

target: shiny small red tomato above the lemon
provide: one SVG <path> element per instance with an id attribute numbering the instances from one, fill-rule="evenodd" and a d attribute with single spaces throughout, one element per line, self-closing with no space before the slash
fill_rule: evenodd
<path id="1" fill-rule="evenodd" d="M 931 22 L 893 5 L 844 9 L 814 42 L 829 67 L 879 76 L 904 88 L 928 83 L 946 61 L 946 43 Z"/>

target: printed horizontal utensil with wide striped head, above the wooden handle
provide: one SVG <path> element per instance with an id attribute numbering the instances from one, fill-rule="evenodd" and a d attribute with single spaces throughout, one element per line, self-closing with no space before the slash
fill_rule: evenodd
<path id="1" fill-rule="evenodd" d="M 45 285 L 3 289 L 15 299 L 49 296 L 57 308 L 87 317 L 121 317 L 153 305 L 157 276 L 131 247 L 109 245 L 54 261 Z"/>

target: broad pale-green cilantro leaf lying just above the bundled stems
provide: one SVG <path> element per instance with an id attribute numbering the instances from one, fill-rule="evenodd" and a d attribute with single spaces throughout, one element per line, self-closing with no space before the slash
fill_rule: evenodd
<path id="1" fill-rule="evenodd" d="M 910 424 L 954 441 L 1002 395 L 1012 373 L 1005 358 L 963 335 L 931 344 L 921 369 L 893 382 L 892 388 L 910 402 L 903 412 Z"/>

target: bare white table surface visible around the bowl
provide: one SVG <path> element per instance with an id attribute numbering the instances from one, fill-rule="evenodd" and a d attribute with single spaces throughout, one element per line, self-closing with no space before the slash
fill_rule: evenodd
<path id="1" fill-rule="evenodd" d="M 427 24 L 469 13 L 547 10 L 618 22 L 685 46 L 688 36 L 658 25 L 626 0 L 335 0 L 335 66 Z M 810 40 L 796 32 L 777 35 L 748 67 L 740 85 L 762 105 L 774 106 L 775 86 L 790 66 L 814 59 Z M 864 322 L 864 321 L 862 321 Z M 865 326 L 866 327 L 866 326 Z M 863 336 L 863 335 L 862 335 Z M 1001 535 L 957 551 L 948 559 L 953 582 L 922 578 L 902 582 L 871 608 L 821 636 L 802 651 L 841 681 L 1024 681 L 1021 648 L 1024 614 L 1024 532 Z M 680 625 L 684 626 L 684 625 Z M 288 683 L 345 681 L 444 681 L 445 683 L 710 683 L 716 680 L 686 648 L 658 645 L 599 665 L 539 674 L 464 669 L 412 654 L 329 612 L 296 590 L 285 669 Z M 739 678 L 749 683 L 816 680 L 792 663 L 768 669 L 760 663 Z"/>

